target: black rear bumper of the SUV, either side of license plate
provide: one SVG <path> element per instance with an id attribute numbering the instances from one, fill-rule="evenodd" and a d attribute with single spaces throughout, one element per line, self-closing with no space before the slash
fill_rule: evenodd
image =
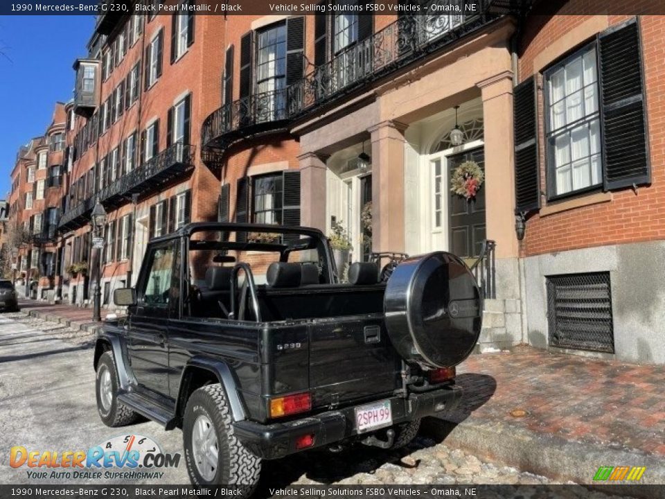
<path id="1" fill-rule="evenodd" d="M 430 392 L 411 393 L 407 399 L 391 397 L 389 400 L 393 423 L 405 423 L 455 408 L 461 396 L 461 387 L 451 386 Z M 284 423 L 262 424 L 254 421 L 238 421 L 233 423 L 233 429 L 236 437 L 252 453 L 263 459 L 278 459 L 299 450 L 335 444 L 357 435 L 356 407 L 331 410 Z M 307 449 L 297 449 L 296 439 L 303 435 L 313 435 L 314 445 Z"/>

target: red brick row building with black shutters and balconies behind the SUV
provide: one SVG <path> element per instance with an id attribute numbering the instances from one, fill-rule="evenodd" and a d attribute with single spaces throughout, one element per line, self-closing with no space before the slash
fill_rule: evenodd
<path id="1" fill-rule="evenodd" d="M 644 263 L 665 253 L 664 21 L 531 3 L 98 18 L 67 105 L 62 298 L 89 299 L 96 200 L 105 304 L 149 238 L 190 220 L 341 225 L 353 260 L 475 265 L 481 351 L 665 362 L 665 286 Z M 453 192 L 465 168 L 482 173 L 470 195 Z"/>

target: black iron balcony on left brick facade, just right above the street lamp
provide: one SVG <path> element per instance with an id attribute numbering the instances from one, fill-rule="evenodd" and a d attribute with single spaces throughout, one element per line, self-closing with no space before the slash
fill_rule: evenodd
<path id="1" fill-rule="evenodd" d="M 175 143 L 99 191 L 103 204 L 124 204 L 133 194 L 147 194 L 194 167 L 194 146 Z"/>

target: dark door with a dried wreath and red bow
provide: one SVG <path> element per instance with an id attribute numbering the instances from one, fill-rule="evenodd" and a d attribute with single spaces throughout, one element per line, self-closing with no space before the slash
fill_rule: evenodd
<path id="1" fill-rule="evenodd" d="M 477 148 L 447 157 L 450 252 L 479 256 L 485 229 L 485 152 Z"/>

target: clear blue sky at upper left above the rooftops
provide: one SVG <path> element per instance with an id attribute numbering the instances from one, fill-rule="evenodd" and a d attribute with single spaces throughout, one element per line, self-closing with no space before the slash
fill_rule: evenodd
<path id="1" fill-rule="evenodd" d="M 0 199 L 21 144 L 44 133 L 57 100 L 72 98 L 71 65 L 87 55 L 93 16 L 0 16 Z"/>

